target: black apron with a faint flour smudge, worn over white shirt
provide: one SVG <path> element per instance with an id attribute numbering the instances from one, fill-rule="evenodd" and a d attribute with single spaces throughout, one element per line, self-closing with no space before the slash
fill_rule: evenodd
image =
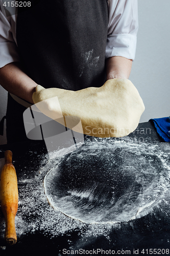
<path id="1" fill-rule="evenodd" d="M 41 0 L 31 5 L 19 9 L 16 24 L 25 73 L 44 88 L 101 87 L 106 79 L 107 0 Z M 27 139 L 22 117 L 26 108 L 14 111 L 13 101 L 9 97 L 8 142 Z"/>

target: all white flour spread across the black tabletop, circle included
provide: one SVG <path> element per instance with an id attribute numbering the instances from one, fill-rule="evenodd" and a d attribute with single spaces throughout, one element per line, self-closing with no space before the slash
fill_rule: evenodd
<path id="1" fill-rule="evenodd" d="M 38 170 L 32 167 L 28 172 L 26 165 L 18 180 L 18 239 L 37 231 L 53 238 L 70 230 L 79 230 L 82 237 L 107 237 L 112 226 L 118 228 L 166 204 L 170 153 L 165 144 L 94 139 L 75 151 L 56 151 L 50 160 L 37 155 L 33 161 L 39 160 Z M 3 237 L 3 216 L 0 229 Z"/>

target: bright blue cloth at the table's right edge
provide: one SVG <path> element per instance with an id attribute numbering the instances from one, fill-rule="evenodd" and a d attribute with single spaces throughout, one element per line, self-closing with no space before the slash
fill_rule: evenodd
<path id="1" fill-rule="evenodd" d="M 150 119 L 153 121 L 157 133 L 165 142 L 170 142 L 170 117 Z"/>

